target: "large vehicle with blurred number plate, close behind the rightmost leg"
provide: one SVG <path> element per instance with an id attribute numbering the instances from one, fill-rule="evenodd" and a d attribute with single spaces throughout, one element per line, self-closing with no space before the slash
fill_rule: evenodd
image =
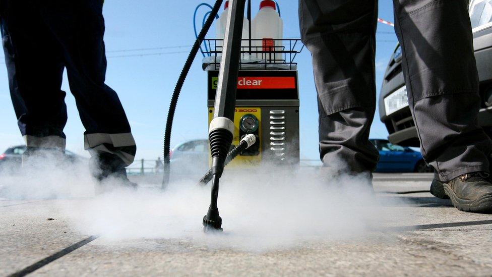
<path id="1" fill-rule="evenodd" d="M 492 2 L 471 0 L 469 12 L 482 98 L 478 123 L 492 137 Z M 402 146 L 418 147 L 420 143 L 408 107 L 401 63 L 401 48 L 397 44 L 384 75 L 379 113 L 388 130 L 389 141 Z"/>

